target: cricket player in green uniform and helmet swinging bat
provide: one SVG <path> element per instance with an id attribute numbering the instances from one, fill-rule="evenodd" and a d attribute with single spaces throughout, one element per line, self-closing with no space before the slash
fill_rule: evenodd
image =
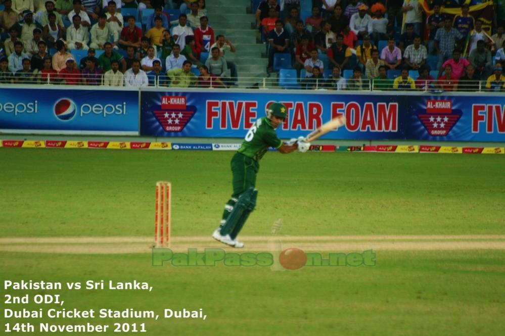
<path id="1" fill-rule="evenodd" d="M 212 233 L 212 237 L 217 241 L 236 248 L 244 247 L 244 243 L 237 240 L 237 235 L 256 206 L 258 196 L 258 190 L 255 189 L 256 174 L 259 170 L 259 160 L 268 148 L 275 148 L 282 154 L 294 152 L 296 149 L 304 153 L 309 149 L 310 143 L 305 142 L 303 136 L 291 139 L 287 143 L 277 136 L 276 129 L 286 120 L 287 111 L 284 104 L 270 104 L 266 109 L 266 117 L 256 120 L 233 156 L 231 162 L 233 194 L 224 206 L 220 226 Z"/>

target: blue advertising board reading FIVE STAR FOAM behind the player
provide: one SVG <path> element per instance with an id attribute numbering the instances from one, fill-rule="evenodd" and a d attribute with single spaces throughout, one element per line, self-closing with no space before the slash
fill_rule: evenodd
<path id="1" fill-rule="evenodd" d="M 281 138 L 304 135 L 332 118 L 346 124 L 323 139 L 505 141 L 505 97 L 424 92 L 141 91 L 141 135 L 244 137 L 279 101 Z"/>

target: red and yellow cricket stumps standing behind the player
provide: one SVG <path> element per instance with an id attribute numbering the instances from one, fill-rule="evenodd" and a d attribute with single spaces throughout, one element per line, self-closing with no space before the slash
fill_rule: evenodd
<path id="1" fill-rule="evenodd" d="M 154 246 L 169 247 L 171 216 L 171 183 L 156 182 L 156 216 L 154 227 Z"/>

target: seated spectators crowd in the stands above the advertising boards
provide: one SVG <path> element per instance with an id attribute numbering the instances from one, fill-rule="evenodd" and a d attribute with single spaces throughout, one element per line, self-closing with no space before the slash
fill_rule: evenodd
<path id="1" fill-rule="evenodd" d="M 282 60 L 280 68 L 296 71 L 302 88 L 503 91 L 505 0 L 494 1 L 494 17 L 477 19 L 469 4 L 481 0 L 251 4 L 267 74 Z M 225 57 L 235 46 L 215 36 L 205 0 L 4 0 L 3 6 L 2 83 L 237 83 L 237 67 Z M 447 8 L 456 14 L 441 12 Z"/>

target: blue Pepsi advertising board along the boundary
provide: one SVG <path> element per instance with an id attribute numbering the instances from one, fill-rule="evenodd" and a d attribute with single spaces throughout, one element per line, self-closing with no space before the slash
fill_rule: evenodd
<path id="1" fill-rule="evenodd" d="M 0 131 L 139 134 L 139 91 L 0 88 Z"/>

